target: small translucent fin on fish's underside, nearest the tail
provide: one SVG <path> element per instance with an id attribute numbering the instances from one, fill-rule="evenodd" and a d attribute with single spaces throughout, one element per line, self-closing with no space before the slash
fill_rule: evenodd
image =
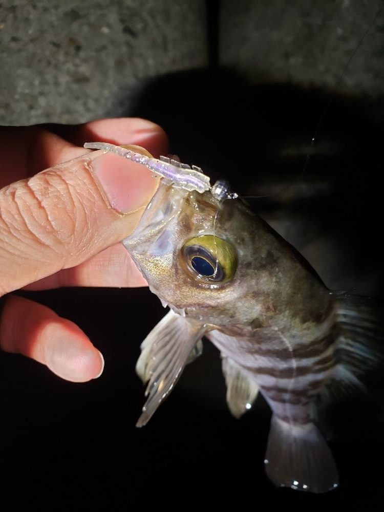
<path id="1" fill-rule="evenodd" d="M 232 359 L 222 355 L 222 368 L 227 385 L 227 404 L 234 417 L 240 418 L 252 407 L 259 387 Z"/>

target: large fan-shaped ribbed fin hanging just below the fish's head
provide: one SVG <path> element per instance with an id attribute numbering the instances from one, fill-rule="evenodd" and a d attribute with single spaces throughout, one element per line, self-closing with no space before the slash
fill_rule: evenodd
<path id="1" fill-rule="evenodd" d="M 136 372 L 148 382 L 148 398 L 137 426 L 145 425 L 173 389 L 205 330 L 204 324 L 170 310 L 144 339 Z"/>

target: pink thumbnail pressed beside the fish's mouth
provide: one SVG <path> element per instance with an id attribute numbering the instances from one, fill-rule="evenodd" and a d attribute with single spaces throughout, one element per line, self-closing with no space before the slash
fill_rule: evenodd
<path id="1" fill-rule="evenodd" d="M 127 214 L 150 202 L 158 179 L 144 165 L 106 153 L 89 162 L 94 177 L 109 205 Z"/>

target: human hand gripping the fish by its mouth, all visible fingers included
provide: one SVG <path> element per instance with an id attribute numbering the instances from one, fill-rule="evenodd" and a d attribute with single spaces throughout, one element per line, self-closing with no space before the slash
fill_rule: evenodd
<path id="1" fill-rule="evenodd" d="M 158 179 L 82 147 L 93 140 L 141 145 L 155 157 L 167 152 L 165 133 L 142 119 L 0 127 L 0 296 L 19 288 L 146 284 L 118 242 L 135 229 Z M 16 295 L 5 297 L 0 347 L 74 382 L 98 377 L 104 365 L 73 322 Z"/>

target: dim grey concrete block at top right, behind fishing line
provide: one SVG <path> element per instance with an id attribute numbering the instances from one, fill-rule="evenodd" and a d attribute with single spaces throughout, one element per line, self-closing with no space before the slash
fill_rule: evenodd
<path id="1" fill-rule="evenodd" d="M 381 0 L 223 0 L 220 61 L 253 83 L 377 97 L 384 91 L 384 10 L 371 23 L 382 5 Z"/>

